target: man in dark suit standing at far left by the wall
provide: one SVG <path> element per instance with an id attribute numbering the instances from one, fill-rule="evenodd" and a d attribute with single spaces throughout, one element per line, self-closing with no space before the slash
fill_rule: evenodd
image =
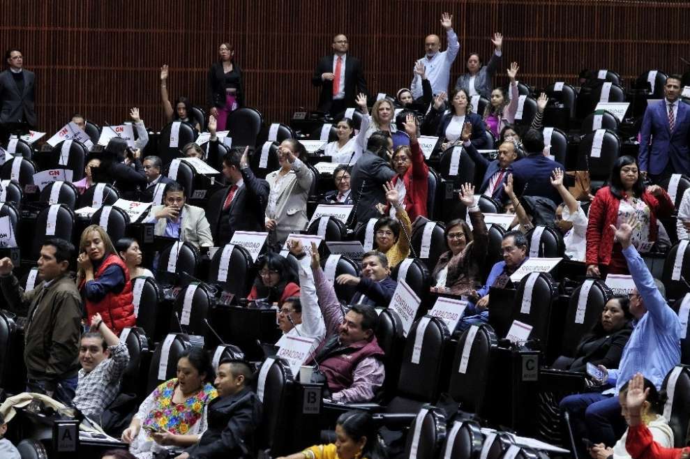
<path id="1" fill-rule="evenodd" d="M 0 73 L 0 142 L 10 134 L 26 134 L 36 126 L 34 86 L 36 74 L 24 69 L 22 50 L 5 53 L 8 69 Z"/>

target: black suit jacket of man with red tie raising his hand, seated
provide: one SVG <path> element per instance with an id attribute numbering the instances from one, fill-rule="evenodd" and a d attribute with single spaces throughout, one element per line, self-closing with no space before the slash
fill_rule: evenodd
<path id="1" fill-rule="evenodd" d="M 258 179 L 249 167 L 242 170 L 242 179 L 244 185 L 237 190 L 230 207 L 223 209 L 227 194 L 230 193 L 230 186 L 228 186 L 223 193 L 218 193 L 223 197 L 223 202 L 220 202 L 220 206 L 217 207 L 220 209 L 218 218 L 214 219 L 207 215 L 207 218 L 216 220 L 210 222 L 211 233 L 213 233 L 213 240 L 220 247 L 229 243 L 236 231 L 264 230 L 264 216 L 269 202 L 269 183 Z"/>

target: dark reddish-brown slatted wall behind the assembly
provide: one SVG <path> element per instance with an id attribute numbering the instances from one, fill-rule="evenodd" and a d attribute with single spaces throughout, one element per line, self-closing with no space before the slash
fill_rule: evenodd
<path id="1" fill-rule="evenodd" d="M 171 68 L 171 97 L 205 106 L 206 73 L 222 41 L 234 43 L 245 71 L 248 104 L 269 121 L 286 122 L 313 107 L 310 75 L 346 33 L 363 60 L 370 92 L 410 84 L 427 33 L 442 35 L 453 14 L 460 55 L 488 58 L 493 31 L 505 36 L 504 62 L 520 63 L 520 80 L 544 86 L 574 82 L 583 67 L 610 68 L 629 80 L 650 68 L 686 70 L 690 3 L 686 1 L 186 0 L 1 1 L 2 49 L 21 47 L 38 75 L 40 128 L 50 133 L 72 112 L 119 123 L 140 107 L 147 124 L 164 119 L 158 69 Z M 504 73 L 504 70 L 503 72 Z M 503 75 L 499 82 L 503 82 Z"/>

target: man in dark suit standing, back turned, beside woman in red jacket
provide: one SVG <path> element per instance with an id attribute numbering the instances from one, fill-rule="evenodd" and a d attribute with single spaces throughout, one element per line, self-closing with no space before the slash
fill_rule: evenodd
<path id="1" fill-rule="evenodd" d="M 383 186 L 396 174 L 384 159 L 392 154 L 391 137 L 385 133 L 373 133 L 367 141 L 366 151 L 352 168 L 352 200 L 358 223 L 366 225 L 370 218 L 381 216 L 376 204 L 387 202 Z"/>

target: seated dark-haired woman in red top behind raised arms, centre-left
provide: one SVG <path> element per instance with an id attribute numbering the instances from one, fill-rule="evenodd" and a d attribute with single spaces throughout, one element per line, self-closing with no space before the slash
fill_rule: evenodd
<path id="1" fill-rule="evenodd" d="M 290 296 L 299 296 L 297 274 L 285 257 L 269 252 L 257 260 L 255 267 L 256 280 L 248 300 L 260 299 L 280 307 Z"/>

